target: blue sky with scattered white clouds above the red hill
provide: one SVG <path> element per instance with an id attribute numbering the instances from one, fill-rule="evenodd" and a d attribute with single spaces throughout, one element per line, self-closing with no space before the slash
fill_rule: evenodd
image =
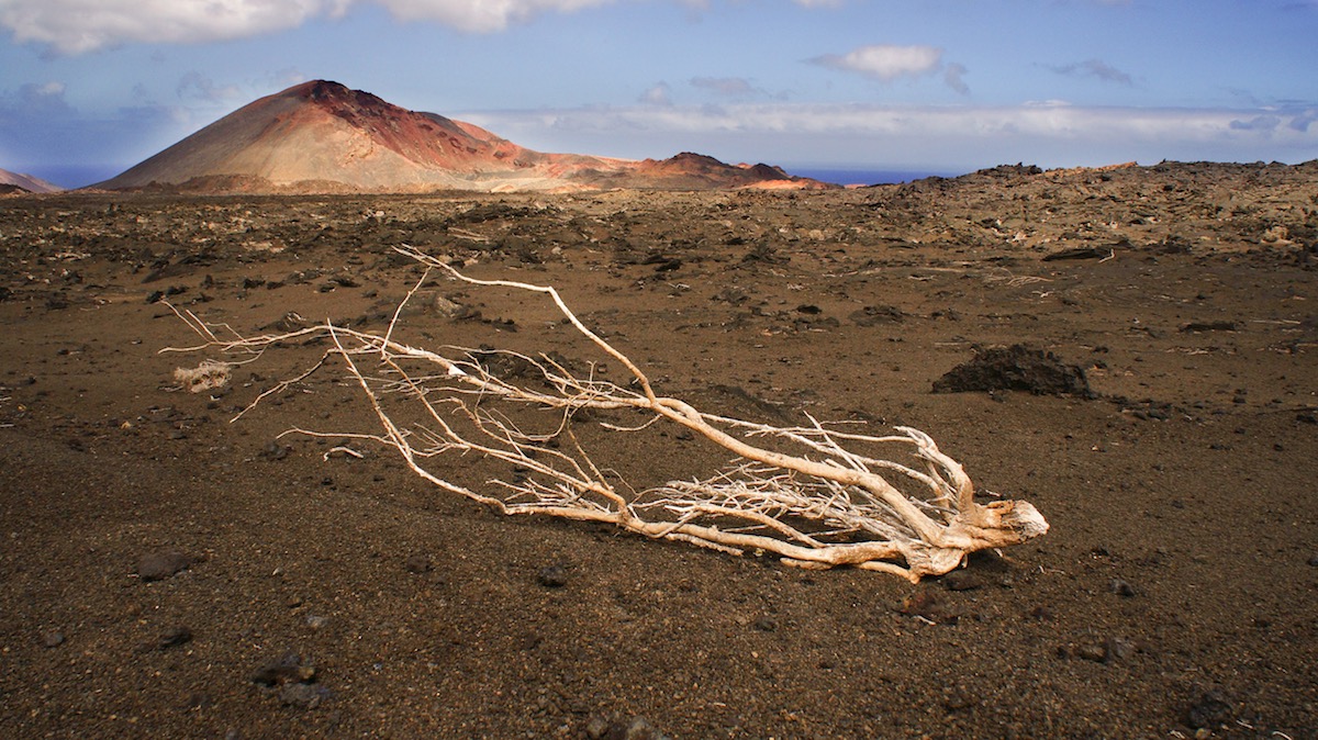
<path id="1" fill-rule="evenodd" d="M 1314 40 L 1318 0 L 0 0 L 0 169 L 90 184 L 311 79 L 634 159 L 1298 163 Z"/>

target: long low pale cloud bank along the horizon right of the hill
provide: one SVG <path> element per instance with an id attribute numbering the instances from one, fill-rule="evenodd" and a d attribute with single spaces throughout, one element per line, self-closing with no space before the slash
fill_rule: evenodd
<path id="1" fill-rule="evenodd" d="M 745 103 L 455 113 L 548 151 L 667 157 L 692 142 L 729 161 L 957 170 L 1162 159 L 1300 162 L 1318 151 L 1318 108 L 1292 111 Z M 771 154 L 768 154 L 771 153 Z"/>

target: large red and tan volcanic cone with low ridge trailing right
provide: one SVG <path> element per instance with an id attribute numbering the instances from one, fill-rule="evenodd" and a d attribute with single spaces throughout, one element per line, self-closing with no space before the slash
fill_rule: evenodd
<path id="1" fill-rule="evenodd" d="M 824 186 L 778 167 L 728 165 L 699 154 L 663 161 L 546 154 L 473 124 L 315 80 L 256 100 L 92 187 L 415 192 Z"/>

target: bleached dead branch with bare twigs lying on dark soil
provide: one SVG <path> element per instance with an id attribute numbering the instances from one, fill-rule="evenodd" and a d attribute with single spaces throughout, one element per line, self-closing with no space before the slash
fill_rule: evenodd
<path id="1" fill-rule="evenodd" d="M 409 346 L 394 338 L 401 307 L 384 334 L 327 323 L 221 340 L 188 315 L 185 320 L 206 342 L 187 349 L 260 356 L 275 345 L 330 340 L 332 346 L 310 370 L 266 390 L 244 413 L 341 359 L 381 431 L 333 437 L 391 448 L 422 478 L 503 514 L 604 521 L 724 552 L 772 553 L 801 568 L 855 566 L 911 581 L 946 573 L 971 552 L 1019 544 L 1048 531 L 1027 502 L 975 502 L 961 465 L 924 432 L 899 427 L 895 435 L 871 436 L 813 419 L 809 425 L 775 427 L 704 413 L 656 394 L 650 378 L 583 324 L 554 287 L 476 279 L 411 248 L 399 251 L 427 267 L 427 277 L 407 299 L 431 271 L 472 286 L 546 295 L 576 332 L 627 370 L 627 384 L 596 377 L 593 366 L 573 371 L 548 353 Z M 518 371 L 498 370 L 507 366 Z M 643 415 L 643 421 L 621 423 L 618 416 L 629 411 Z M 588 427 L 637 433 L 664 423 L 718 445 L 737 461 L 708 477 L 638 492 L 614 471 L 597 467 L 577 435 Z M 474 490 L 435 471 L 432 461 L 453 454 L 505 463 L 513 475 Z"/>

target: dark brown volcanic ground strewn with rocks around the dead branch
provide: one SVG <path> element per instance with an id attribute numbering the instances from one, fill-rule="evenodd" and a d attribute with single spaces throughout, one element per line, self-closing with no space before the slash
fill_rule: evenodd
<path id="1" fill-rule="evenodd" d="M 1314 163 L 0 200 L 0 736 L 1318 737 L 1315 237 Z M 177 387 L 202 357 L 158 353 L 196 337 L 157 298 L 243 333 L 380 329 L 419 275 L 399 244 L 559 286 L 710 410 L 921 428 L 1052 531 L 916 586 L 801 571 L 277 437 L 373 431 L 339 371 L 228 423 L 323 346 Z M 422 299 L 416 344 L 587 353 L 526 295 Z M 1017 344 L 1091 392 L 933 392 Z M 722 462 L 677 442 L 597 453 Z"/>

